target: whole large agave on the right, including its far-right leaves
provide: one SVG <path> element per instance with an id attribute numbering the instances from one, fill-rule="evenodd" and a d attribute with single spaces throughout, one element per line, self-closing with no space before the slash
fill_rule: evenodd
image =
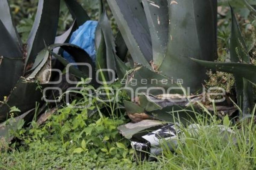
<path id="1" fill-rule="evenodd" d="M 256 67 L 249 64 L 248 50 L 233 10 L 231 62 L 216 63 L 217 1 L 107 1 L 135 65 L 128 74 L 126 88 L 131 96 L 139 97 L 134 97 L 135 102 L 124 102 L 134 122 L 149 118 L 173 122 L 176 117 L 185 123 L 191 120 L 194 109 L 206 107 L 199 103 L 206 69 L 235 75 L 237 105 L 242 108 L 241 113 L 248 113 L 253 102 L 249 82 L 255 83 Z M 255 13 L 246 0 L 243 2 L 243 7 Z M 120 69 L 125 68 L 124 63 L 116 64 L 119 72 L 125 72 Z M 170 87 L 172 90 L 167 91 Z M 206 108 L 228 114 L 236 111 L 232 105 Z"/>

